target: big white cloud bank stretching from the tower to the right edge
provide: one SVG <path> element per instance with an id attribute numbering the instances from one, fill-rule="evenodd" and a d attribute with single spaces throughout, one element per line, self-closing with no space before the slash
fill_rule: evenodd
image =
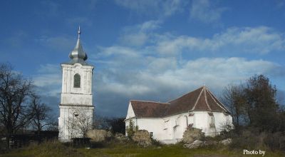
<path id="1" fill-rule="evenodd" d="M 152 26 L 152 24 L 154 24 Z M 255 28 L 230 28 L 212 38 L 174 36 L 170 33 L 155 34 L 140 31 L 159 28 L 159 23 L 146 22 L 135 26 L 135 30 L 147 35 L 151 41 L 140 47 L 101 47 L 93 63 L 103 65 L 97 90 L 118 93 L 125 96 L 174 95 L 177 90 L 190 91 L 204 83 L 215 89 L 222 89 L 228 83 L 244 81 L 254 74 L 284 77 L 284 67 L 264 60 L 248 60 L 239 57 L 199 58 L 185 60 L 182 53 L 227 53 L 266 54 L 285 50 L 283 34 L 266 26 Z M 158 26 L 158 27 L 157 27 Z M 128 35 L 126 31 L 125 35 Z M 159 54 L 159 55 L 157 55 Z M 204 55 L 203 55 L 204 54 Z M 92 58 L 91 58 L 92 60 Z M 102 86 L 101 86 L 102 85 Z M 107 91 L 106 91 L 107 90 Z"/>

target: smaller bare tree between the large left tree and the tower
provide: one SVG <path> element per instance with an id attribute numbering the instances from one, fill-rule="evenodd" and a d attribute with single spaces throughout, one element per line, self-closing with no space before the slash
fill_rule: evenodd
<path id="1" fill-rule="evenodd" d="M 51 125 L 50 111 L 51 108 L 41 103 L 41 99 L 35 93 L 31 94 L 31 110 L 33 111 L 33 118 L 31 125 L 36 128 L 38 135 L 44 127 Z"/>

